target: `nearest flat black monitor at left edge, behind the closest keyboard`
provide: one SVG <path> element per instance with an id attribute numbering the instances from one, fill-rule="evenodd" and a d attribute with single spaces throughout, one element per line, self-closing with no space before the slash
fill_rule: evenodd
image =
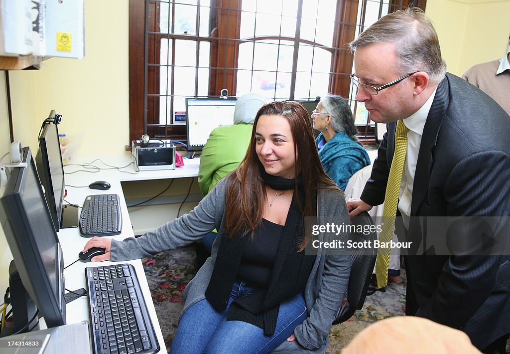
<path id="1" fill-rule="evenodd" d="M 60 326 L 66 323 L 63 254 L 28 147 L 23 161 L 27 167 L 10 168 L 0 222 L 25 290 L 46 325 Z"/>

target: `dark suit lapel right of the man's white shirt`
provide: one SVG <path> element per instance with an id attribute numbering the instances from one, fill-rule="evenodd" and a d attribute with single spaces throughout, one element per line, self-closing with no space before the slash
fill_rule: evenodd
<path id="1" fill-rule="evenodd" d="M 432 167 L 432 149 L 436 146 L 439 129 L 446 114 L 449 103 L 449 83 L 446 77 L 441 81 L 428 112 L 427 121 L 423 128 L 418 161 L 416 163 L 413 184 L 413 199 L 411 202 L 411 216 L 416 216 L 418 207 L 428 192 L 430 170 Z"/>

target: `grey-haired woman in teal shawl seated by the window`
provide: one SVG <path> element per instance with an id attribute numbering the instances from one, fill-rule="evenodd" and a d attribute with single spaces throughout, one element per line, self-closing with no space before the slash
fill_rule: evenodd
<path id="1" fill-rule="evenodd" d="M 312 121 L 321 132 L 315 141 L 322 168 L 343 191 L 349 178 L 370 164 L 366 150 L 356 138 L 358 131 L 347 100 L 327 95 L 317 104 Z"/>

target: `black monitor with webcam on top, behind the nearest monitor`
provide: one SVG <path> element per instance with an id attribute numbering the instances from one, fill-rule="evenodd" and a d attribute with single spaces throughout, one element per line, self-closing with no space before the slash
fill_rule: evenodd
<path id="1" fill-rule="evenodd" d="M 50 116 L 55 117 L 52 110 Z M 39 150 L 36 155 L 37 171 L 44 187 L 49 213 L 57 231 L 60 228 L 78 227 L 78 207 L 64 205 L 64 167 L 60 152 L 59 130 L 53 122 L 45 121 L 39 136 Z"/>

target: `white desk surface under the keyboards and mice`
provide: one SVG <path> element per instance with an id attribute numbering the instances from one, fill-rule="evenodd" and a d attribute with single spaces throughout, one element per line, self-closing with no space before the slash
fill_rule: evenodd
<path id="1" fill-rule="evenodd" d="M 95 158 L 79 158 L 71 163 L 83 164 L 86 162 L 92 162 Z M 129 164 L 132 159 L 130 157 L 101 157 L 101 161 L 108 163 L 111 166 L 121 167 Z M 95 161 L 92 164 L 99 168 L 108 168 L 104 166 L 104 163 Z M 66 201 L 72 204 L 82 205 L 83 201 L 88 195 L 91 194 L 118 194 L 120 197 L 120 209 L 122 214 L 122 232 L 119 235 L 110 237 L 115 240 L 123 240 L 127 237 L 134 237 L 133 229 L 131 227 L 131 220 L 127 211 L 124 195 L 122 192 L 121 181 L 136 181 L 136 180 L 153 180 L 153 179 L 164 179 L 164 178 L 183 178 L 183 177 L 196 177 L 198 176 L 198 166 L 200 160 L 184 159 L 185 166 L 177 167 L 175 170 L 153 170 L 153 171 L 140 171 L 136 173 L 134 164 L 129 167 L 121 169 L 120 172 L 116 169 L 112 170 L 100 170 L 99 172 L 90 173 L 83 172 L 84 168 L 81 166 L 75 166 L 74 164 L 66 166 L 64 171 L 66 172 L 65 180 L 66 184 L 83 186 L 96 180 L 106 180 L 111 184 L 111 188 L 107 191 L 91 190 L 90 188 L 74 188 L 66 187 L 67 196 Z M 81 171 L 71 173 L 73 171 Z M 78 228 L 61 229 L 58 232 L 59 240 L 64 252 L 64 266 L 67 266 L 78 259 L 78 253 L 83 250 L 83 246 L 89 240 L 80 236 Z M 161 333 L 161 327 L 158 322 L 158 317 L 154 309 L 154 303 L 150 296 L 150 291 L 147 285 L 147 279 L 143 271 L 142 262 L 140 259 L 135 261 L 127 262 L 101 262 L 101 263 L 83 263 L 77 262 L 65 270 L 65 286 L 67 289 L 74 291 L 80 288 L 86 288 L 85 284 L 85 272 L 84 269 L 89 266 L 104 266 L 110 264 L 119 263 L 130 263 L 135 267 L 140 286 L 142 288 L 143 297 L 147 304 L 147 309 L 150 314 L 152 325 L 156 331 L 156 335 L 160 345 L 160 351 L 166 352 L 166 346 L 163 341 L 163 335 Z M 67 304 L 67 323 L 78 323 L 83 320 L 89 320 L 88 315 L 88 299 L 86 297 L 78 298 Z"/>

